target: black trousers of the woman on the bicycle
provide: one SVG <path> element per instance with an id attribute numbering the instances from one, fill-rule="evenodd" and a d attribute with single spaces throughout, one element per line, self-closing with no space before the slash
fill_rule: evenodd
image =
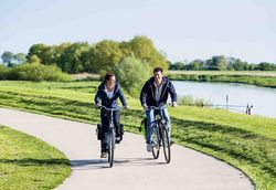
<path id="1" fill-rule="evenodd" d="M 114 127 L 115 127 L 116 137 L 120 137 L 123 135 L 120 133 L 119 118 L 120 118 L 119 110 L 114 110 L 113 112 L 113 123 L 114 123 Z M 110 112 L 102 109 L 100 110 L 100 120 L 102 120 L 103 134 L 104 134 L 104 137 L 100 140 L 100 149 L 102 149 L 102 151 L 106 151 L 106 148 L 107 148 L 107 138 L 106 137 L 107 137 L 107 133 L 108 133 L 108 126 L 110 124 Z"/>

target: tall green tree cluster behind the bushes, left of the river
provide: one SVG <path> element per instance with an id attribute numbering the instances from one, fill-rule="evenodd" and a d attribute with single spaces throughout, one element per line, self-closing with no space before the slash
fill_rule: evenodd
<path id="1" fill-rule="evenodd" d="M 22 54 L 21 54 L 22 55 Z M 162 55 L 147 36 L 137 35 L 127 42 L 103 40 L 95 44 L 87 42 L 62 43 L 60 45 L 33 44 L 28 54 L 19 60 L 12 52 L 4 52 L 2 61 L 8 66 L 18 63 L 40 63 L 56 65 L 63 72 L 74 73 L 104 73 L 113 71 L 124 59 L 135 56 L 146 62 L 150 67 L 161 66 L 168 68 Z"/>

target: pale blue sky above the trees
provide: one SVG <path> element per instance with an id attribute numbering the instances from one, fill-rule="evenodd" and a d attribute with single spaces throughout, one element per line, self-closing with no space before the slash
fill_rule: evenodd
<path id="1" fill-rule="evenodd" d="M 0 54 L 146 35 L 171 62 L 276 63 L 275 0 L 0 0 Z"/>

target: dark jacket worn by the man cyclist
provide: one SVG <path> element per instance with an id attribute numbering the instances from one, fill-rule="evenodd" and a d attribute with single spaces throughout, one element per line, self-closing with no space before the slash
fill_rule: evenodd
<path id="1" fill-rule="evenodd" d="M 169 78 L 164 77 L 162 78 L 162 91 L 160 99 L 157 102 L 156 99 L 156 85 L 153 84 L 155 77 L 151 77 L 149 81 L 147 81 L 141 89 L 140 94 L 140 102 L 144 106 L 145 104 L 147 106 L 161 106 L 164 105 L 168 101 L 168 95 L 170 94 L 171 101 L 177 102 L 177 92 L 170 82 Z"/>

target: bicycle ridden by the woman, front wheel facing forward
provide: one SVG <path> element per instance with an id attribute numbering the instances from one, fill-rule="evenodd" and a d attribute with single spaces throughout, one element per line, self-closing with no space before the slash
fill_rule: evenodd
<path id="1" fill-rule="evenodd" d="M 107 157 L 108 157 L 109 167 L 112 168 L 114 163 L 114 149 L 115 149 L 115 127 L 114 127 L 114 122 L 113 122 L 113 112 L 119 110 L 119 108 L 108 108 L 103 105 L 99 105 L 99 108 L 104 108 L 108 112 L 107 115 L 108 115 L 109 125 L 108 125 L 107 136 L 104 140 L 107 141 L 107 148 L 108 148 Z"/>

